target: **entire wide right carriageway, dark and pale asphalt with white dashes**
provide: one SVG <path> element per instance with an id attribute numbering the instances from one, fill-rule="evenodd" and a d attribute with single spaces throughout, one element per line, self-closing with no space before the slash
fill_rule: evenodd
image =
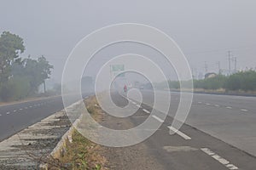
<path id="1" fill-rule="evenodd" d="M 130 96 L 134 107 L 140 105 L 137 113 L 131 116 L 134 126 L 144 122 L 149 116 L 147 111 L 152 110 L 153 95 L 150 91 L 142 94 L 146 105 L 140 105 Z M 127 105 L 128 102 L 117 94 L 113 100 L 116 105 Z M 186 124 L 171 135 L 172 116 L 178 101 L 179 95 L 173 93 L 169 116 L 162 120 L 163 113 L 159 111 L 154 118 L 163 124 L 144 141 L 149 153 L 166 169 L 256 168 L 253 156 L 256 149 L 255 98 L 195 94 Z"/>

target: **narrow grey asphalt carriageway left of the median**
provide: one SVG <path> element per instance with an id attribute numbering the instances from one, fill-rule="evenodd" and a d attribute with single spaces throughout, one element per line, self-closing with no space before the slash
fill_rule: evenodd
<path id="1" fill-rule="evenodd" d="M 69 96 L 70 104 L 76 102 Z M 61 96 L 0 106 L 0 141 L 62 109 Z"/>

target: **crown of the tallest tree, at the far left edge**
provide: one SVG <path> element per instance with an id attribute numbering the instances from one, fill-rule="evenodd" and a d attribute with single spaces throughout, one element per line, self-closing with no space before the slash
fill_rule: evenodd
<path id="1" fill-rule="evenodd" d="M 20 63 L 19 54 L 23 53 L 25 47 L 23 39 L 19 36 L 3 31 L 0 37 L 0 82 L 7 82 L 11 76 L 11 65 Z"/>

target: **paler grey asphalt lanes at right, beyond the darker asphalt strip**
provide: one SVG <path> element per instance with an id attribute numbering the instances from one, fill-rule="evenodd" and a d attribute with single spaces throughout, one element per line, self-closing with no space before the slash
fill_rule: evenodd
<path id="1" fill-rule="evenodd" d="M 159 93 L 166 96 L 166 92 Z M 143 102 L 152 106 L 153 92 L 143 90 L 142 94 Z M 174 116 L 179 104 L 179 94 L 171 93 L 171 99 L 168 115 Z M 194 94 L 186 123 L 256 156 L 255 105 L 255 97 Z"/>

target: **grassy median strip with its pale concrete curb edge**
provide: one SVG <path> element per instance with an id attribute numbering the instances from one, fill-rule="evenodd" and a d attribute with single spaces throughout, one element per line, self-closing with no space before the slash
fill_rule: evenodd
<path id="1" fill-rule="evenodd" d="M 96 122 L 102 120 L 101 109 L 96 102 L 95 97 L 91 97 L 85 100 L 87 111 L 90 113 Z M 80 103 L 80 104 L 79 104 Z M 81 111 L 83 102 L 73 104 L 70 108 L 73 111 Z M 102 146 L 91 142 L 86 139 L 75 127 L 83 127 L 83 124 L 90 123 L 88 119 L 80 117 L 73 123 L 67 133 L 62 136 L 61 141 L 49 156 L 49 160 L 54 158 L 58 161 L 58 164 L 42 164 L 42 169 L 93 169 L 93 170 L 105 170 L 105 164 L 107 160 L 102 156 Z"/>

